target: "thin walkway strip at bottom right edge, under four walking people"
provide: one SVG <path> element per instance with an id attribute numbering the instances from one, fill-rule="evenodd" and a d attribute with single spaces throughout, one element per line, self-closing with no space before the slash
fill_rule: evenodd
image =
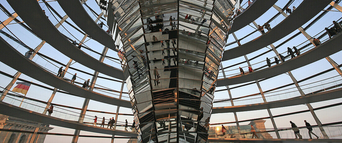
<path id="1" fill-rule="evenodd" d="M 236 138 L 208 138 L 207 142 L 220 142 L 220 143 L 341 143 L 339 139 L 236 139 Z"/>

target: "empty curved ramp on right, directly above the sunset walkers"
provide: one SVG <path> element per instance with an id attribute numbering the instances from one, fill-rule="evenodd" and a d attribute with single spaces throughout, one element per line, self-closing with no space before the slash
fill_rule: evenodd
<path id="1" fill-rule="evenodd" d="M 211 114 L 271 109 L 342 98 L 342 88 L 265 103 L 213 107 Z"/>

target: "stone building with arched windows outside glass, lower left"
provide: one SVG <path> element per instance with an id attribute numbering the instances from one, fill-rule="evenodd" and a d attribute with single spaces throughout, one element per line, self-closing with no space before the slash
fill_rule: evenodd
<path id="1" fill-rule="evenodd" d="M 22 131 L 35 131 L 37 122 L 14 118 L 0 114 L 0 129 L 22 130 Z M 51 127 L 42 124 L 38 132 L 48 132 Z M 45 134 L 38 134 L 35 143 L 43 143 Z M 28 143 L 32 137 L 32 133 L 21 132 L 6 132 L 0 131 L 0 141 L 4 143 Z"/>

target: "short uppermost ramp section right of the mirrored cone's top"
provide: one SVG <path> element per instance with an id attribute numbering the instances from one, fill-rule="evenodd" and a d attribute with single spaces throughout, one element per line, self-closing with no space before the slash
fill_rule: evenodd
<path id="1" fill-rule="evenodd" d="M 240 30 L 241 28 L 244 28 L 248 24 L 255 21 L 267 10 L 269 10 L 277 1 L 278 0 L 254 1 L 252 5 L 246 8 L 245 11 L 243 11 L 234 19 L 234 23 L 232 25 L 232 28 L 228 31 L 228 34 L 232 34 L 233 32 Z"/>

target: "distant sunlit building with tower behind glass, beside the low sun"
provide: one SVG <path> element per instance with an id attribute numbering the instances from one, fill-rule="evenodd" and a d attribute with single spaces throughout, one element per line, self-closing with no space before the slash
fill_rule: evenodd
<path id="1" fill-rule="evenodd" d="M 265 130 L 265 120 L 255 120 L 251 121 L 248 125 L 240 125 L 240 130 L 237 129 L 237 126 L 225 126 L 227 129 L 227 133 L 225 134 L 226 138 L 252 138 L 251 133 L 251 125 L 253 125 L 257 135 L 261 139 L 273 139 L 272 135 L 268 132 L 264 132 Z M 223 133 L 221 130 L 221 126 L 210 127 L 209 128 L 209 138 L 223 138 Z"/>

